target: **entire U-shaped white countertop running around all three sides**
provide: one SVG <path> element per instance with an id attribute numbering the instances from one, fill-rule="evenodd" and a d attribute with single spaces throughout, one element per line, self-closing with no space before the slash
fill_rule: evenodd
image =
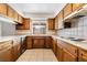
<path id="1" fill-rule="evenodd" d="M 30 34 L 30 35 L 0 36 L 0 42 L 9 41 L 9 40 L 14 40 L 14 39 L 20 39 L 20 37 L 25 37 L 25 36 L 52 36 L 53 39 L 62 40 L 64 42 L 67 42 L 69 44 L 73 44 L 75 46 L 78 46 L 78 47 L 84 48 L 84 50 L 87 51 L 87 41 L 85 41 L 85 42 L 76 42 L 76 41 L 70 41 L 70 40 L 67 40 L 67 39 L 62 39 L 62 37 L 59 37 L 57 35 L 47 35 L 47 34 L 40 34 L 40 35 Z"/>

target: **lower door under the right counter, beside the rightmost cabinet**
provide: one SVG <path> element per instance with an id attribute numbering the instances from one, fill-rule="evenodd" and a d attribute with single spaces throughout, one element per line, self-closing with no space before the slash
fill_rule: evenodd
<path id="1" fill-rule="evenodd" d="M 67 50 L 63 48 L 63 62 L 76 62 L 77 57 L 70 54 Z"/>

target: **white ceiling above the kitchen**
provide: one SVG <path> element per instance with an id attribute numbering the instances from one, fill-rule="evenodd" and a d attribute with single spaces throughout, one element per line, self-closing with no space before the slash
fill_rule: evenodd
<path id="1" fill-rule="evenodd" d="M 9 3 L 21 15 L 44 20 L 54 18 L 66 3 Z"/>

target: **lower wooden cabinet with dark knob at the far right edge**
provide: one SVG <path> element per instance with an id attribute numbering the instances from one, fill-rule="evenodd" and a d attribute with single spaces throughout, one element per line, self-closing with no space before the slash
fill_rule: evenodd
<path id="1" fill-rule="evenodd" d="M 79 48 L 78 61 L 79 62 L 87 62 L 87 51 Z"/>

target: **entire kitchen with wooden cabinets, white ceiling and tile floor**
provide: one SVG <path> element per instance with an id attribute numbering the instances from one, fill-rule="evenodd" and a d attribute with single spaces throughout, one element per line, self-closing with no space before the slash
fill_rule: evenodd
<path id="1" fill-rule="evenodd" d="M 0 3 L 0 62 L 87 62 L 86 21 L 87 3 Z"/>

